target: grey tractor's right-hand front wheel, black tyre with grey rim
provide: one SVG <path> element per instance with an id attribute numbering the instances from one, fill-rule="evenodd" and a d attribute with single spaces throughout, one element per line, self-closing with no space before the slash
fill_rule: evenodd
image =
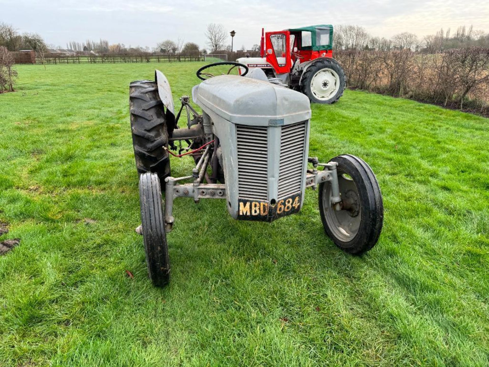
<path id="1" fill-rule="evenodd" d="M 378 241 L 384 219 L 382 195 L 369 165 L 355 156 L 333 158 L 342 210 L 331 204 L 331 184 L 319 185 L 319 212 L 323 227 L 334 244 L 351 254 L 372 249 Z"/>

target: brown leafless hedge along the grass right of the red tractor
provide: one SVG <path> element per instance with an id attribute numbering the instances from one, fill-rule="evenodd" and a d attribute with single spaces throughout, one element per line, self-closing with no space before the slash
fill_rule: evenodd
<path id="1" fill-rule="evenodd" d="M 350 88 L 379 92 L 489 116 L 489 48 L 467 46 L 438 53 L 336 50 Z"/>

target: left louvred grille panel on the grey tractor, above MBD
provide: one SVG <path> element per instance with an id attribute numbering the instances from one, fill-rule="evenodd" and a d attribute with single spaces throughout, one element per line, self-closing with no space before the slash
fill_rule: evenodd
<path id="1" fill-rule="evenodd" d="M 268 199 L 267 127 L 236 125 L 240 198 Z"/>

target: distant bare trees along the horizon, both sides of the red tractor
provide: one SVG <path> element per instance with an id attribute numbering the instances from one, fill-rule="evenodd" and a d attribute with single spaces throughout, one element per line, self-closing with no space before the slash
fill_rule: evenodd
<path id="1" fill-rule="evenodd" d="M 229 41 L 229 34 L 222 24 L 209 23 L 204 31 L 207 46 L 210 53 L 219 51 L 230 51 L 231 46 L 226 44 Z M 37 33 L 20 33 L 10 24 L 0 23 L 0 46 L 6 47 L 9 51 L 19 51 L 22 49 L 47 49 L 43 37 Z M 436 53 L 450 48 L 464 48 L 470 46 L 489 47 L 489 33 L 482 30 L 474 30 L 472 26 L 460 26 L 455 32 L 450 29 L 441 29 L 432 35 L 424 36 L 422 39 L 414 33 L 402 32 L 391 38 L 374 37 L 365 28 L 351 24 L 340 24 L 335 26 L 333 34 L 333 48 L 338 50 L 392 50 L 392 49 L 411 49 L 424 53 Z M 49 45 L 50 48 L 63 48 L 61 46 Z M 259 51 L 259 45 L 252 46 L 252 50 Z M 124 44 L 110 44 L 106 39 L 99 41 L 87 40 L 85 42 L 69 41 L 66 48 L 77 53 L 116 53 L 116 54 L 195 54 L 197 51 L 207 53 L 207 48 L 200 48 L 194 42 L 184 43 L 178 39 L 173 41 L 167 39 L 159 42 L 155 47 L 148 46 L 125 46 Z M 242 46 L 242 50 L 245 49 Z"/>

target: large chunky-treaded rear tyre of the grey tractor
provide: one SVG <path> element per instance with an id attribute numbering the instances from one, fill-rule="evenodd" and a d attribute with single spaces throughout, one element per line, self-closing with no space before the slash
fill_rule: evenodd
<path id="1" fill-rule="evenodd" d="M 138 80 L 129 86 L 129 108 L 133 134 L 134 158 L 139 174 L 155 172 L 165 190 L 170 176 L 168 130 L 156 82 Z"/>

